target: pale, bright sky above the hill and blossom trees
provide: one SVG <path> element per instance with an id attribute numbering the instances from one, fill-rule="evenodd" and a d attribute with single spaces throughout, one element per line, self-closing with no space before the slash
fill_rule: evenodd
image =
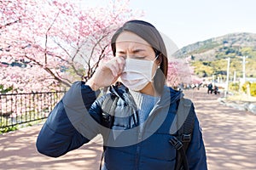
<path id="1" fill-rule="evenodd" d="M 99 5 L 109 0 L 86 1 Z M 256 33 L 255 0 L 130 0 L 130 7 L 143 10 L 140 19 L 171 38 L 177 48 L 229 33 Z"/>

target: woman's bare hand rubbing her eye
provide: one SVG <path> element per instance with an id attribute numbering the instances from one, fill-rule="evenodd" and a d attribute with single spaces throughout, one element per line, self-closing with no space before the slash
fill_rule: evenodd
<path id="1" fill-rule="evenodd" d="M 86 85 L 96 91 L 102 87 L 108 87 L 113 82 L 116 82 L 121 75 L 125 66 L 125 59 L 123 57 L 114 57 L 107 63 L 100 65 L 94 75 L 86 82 Z"/>

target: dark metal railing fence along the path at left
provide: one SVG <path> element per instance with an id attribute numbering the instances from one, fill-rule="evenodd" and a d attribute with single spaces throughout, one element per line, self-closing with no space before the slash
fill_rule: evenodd
<path id="1" fill-rule="evenodd" d="M 0 128 L 46 118 L 64 94 L 64 91 L 0 94 Z"/>

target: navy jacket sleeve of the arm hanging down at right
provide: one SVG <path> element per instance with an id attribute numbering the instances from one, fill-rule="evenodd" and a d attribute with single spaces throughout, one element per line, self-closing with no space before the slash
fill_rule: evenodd
<path id="1" fill-rule="evenodd" d="M 202 138 L 200 122 L 196 116 L 192 140 L 187 150 L 187 157 L 190 170 L 207 170 L 206 150 Z"/>

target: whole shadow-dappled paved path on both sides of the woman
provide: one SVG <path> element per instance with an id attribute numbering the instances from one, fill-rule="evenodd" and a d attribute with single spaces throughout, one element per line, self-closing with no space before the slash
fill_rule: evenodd
<path id="1" fill-rule="evenodd" d="M 210 170 L 256 169 L 256 116 L 219 105 L 218 95 L 205 89 L 185 91 L 195 103 L 203 129 Z M 50 158 L 38 154 L 35 141 L 42 125 L 0 135 L 0 169 L 92 170 L 99 169 L 99 142 L 84 144 L 65 156 Z M 97 139 L 96 141 L 99 141 Z"/>

